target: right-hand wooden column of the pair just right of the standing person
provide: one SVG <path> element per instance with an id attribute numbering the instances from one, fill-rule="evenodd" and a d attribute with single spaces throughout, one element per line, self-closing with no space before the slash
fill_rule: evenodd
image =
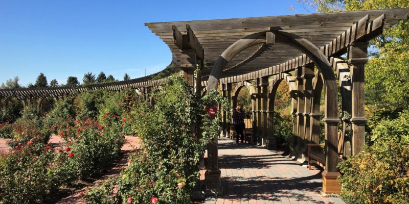
<path id="1" fill-rule="evenodd" d="M 261 145 L 267 144 L 268 134 L 268 77 L 263 77 L 259 80 L 260 84 L 260 99 L 261 99 Z"/>

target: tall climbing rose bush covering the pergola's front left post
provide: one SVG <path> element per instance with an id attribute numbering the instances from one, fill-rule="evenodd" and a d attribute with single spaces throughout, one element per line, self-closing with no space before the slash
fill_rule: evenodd
<path id="1" fill-rule="evenodd" d="M 229 108 L 228 101 L 216 91 L 200 100 L 183 79 L 176 77 L 153 98 L 154 105 L 141 103 L 131 112 L 132 128 L 138 132 L 143 149 L 131 156 L 129 166 L 121 171 L 115 182 L 119 186 L 117 194 L 112 195 L 114 184 L 106 184 L 88 191 L 86 203 L 126 203 L 129 199 L 150 203 L 152 198 L 159 203 L 191 203 L 199 178 L 196 165 L 203 158 L 208 140 L 217 137 L 220 128 L 217 117 L 207 116 L 205 105 L 216 101 Z M 192 127 L 199 121 L 202 134 L 196 135 Z"/>

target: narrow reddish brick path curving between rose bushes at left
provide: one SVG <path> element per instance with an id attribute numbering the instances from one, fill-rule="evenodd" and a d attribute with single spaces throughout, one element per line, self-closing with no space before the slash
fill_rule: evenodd
<path id="1" fill-rule="evenodd" d="M 58 136 L 56 136 L 58 137 Z M 54 138 L 52 137 L 49 141 L 49 143 L 58 143 L 58 138 Z M 138 137 L 130 137 L 130 136 L 125 136 L 125 144 L 124 146 L 122 146 L 121 148 L 121 153 L 123 154 L 122 158 L 120 159 L 120 161 L 113 166 L 106 174 L 104 174 L 99 180 L 95 181 L 93 183 L 93 185 L 100 183 L 106 179 L 108 179 L 109 177 L 113 177 L 113 176 L 119 176 L 119 173 L 121 172 L 121 169 L 125 168 L 128 166 L 128 157 L 130 156 L 131 152 L 134 149 L 137 149 L 140 147 L 140 143 L 139 143 L 139 138 Z M 91 187 L 91 186 L 88 186 Z M 82 194 L 85 192 L 85 188 L 75 192 L 74 194 L 62 198 L 60 201 L 58 201 L 58 204 L 82 204 L 84 203 L 82 201 Z"/>

